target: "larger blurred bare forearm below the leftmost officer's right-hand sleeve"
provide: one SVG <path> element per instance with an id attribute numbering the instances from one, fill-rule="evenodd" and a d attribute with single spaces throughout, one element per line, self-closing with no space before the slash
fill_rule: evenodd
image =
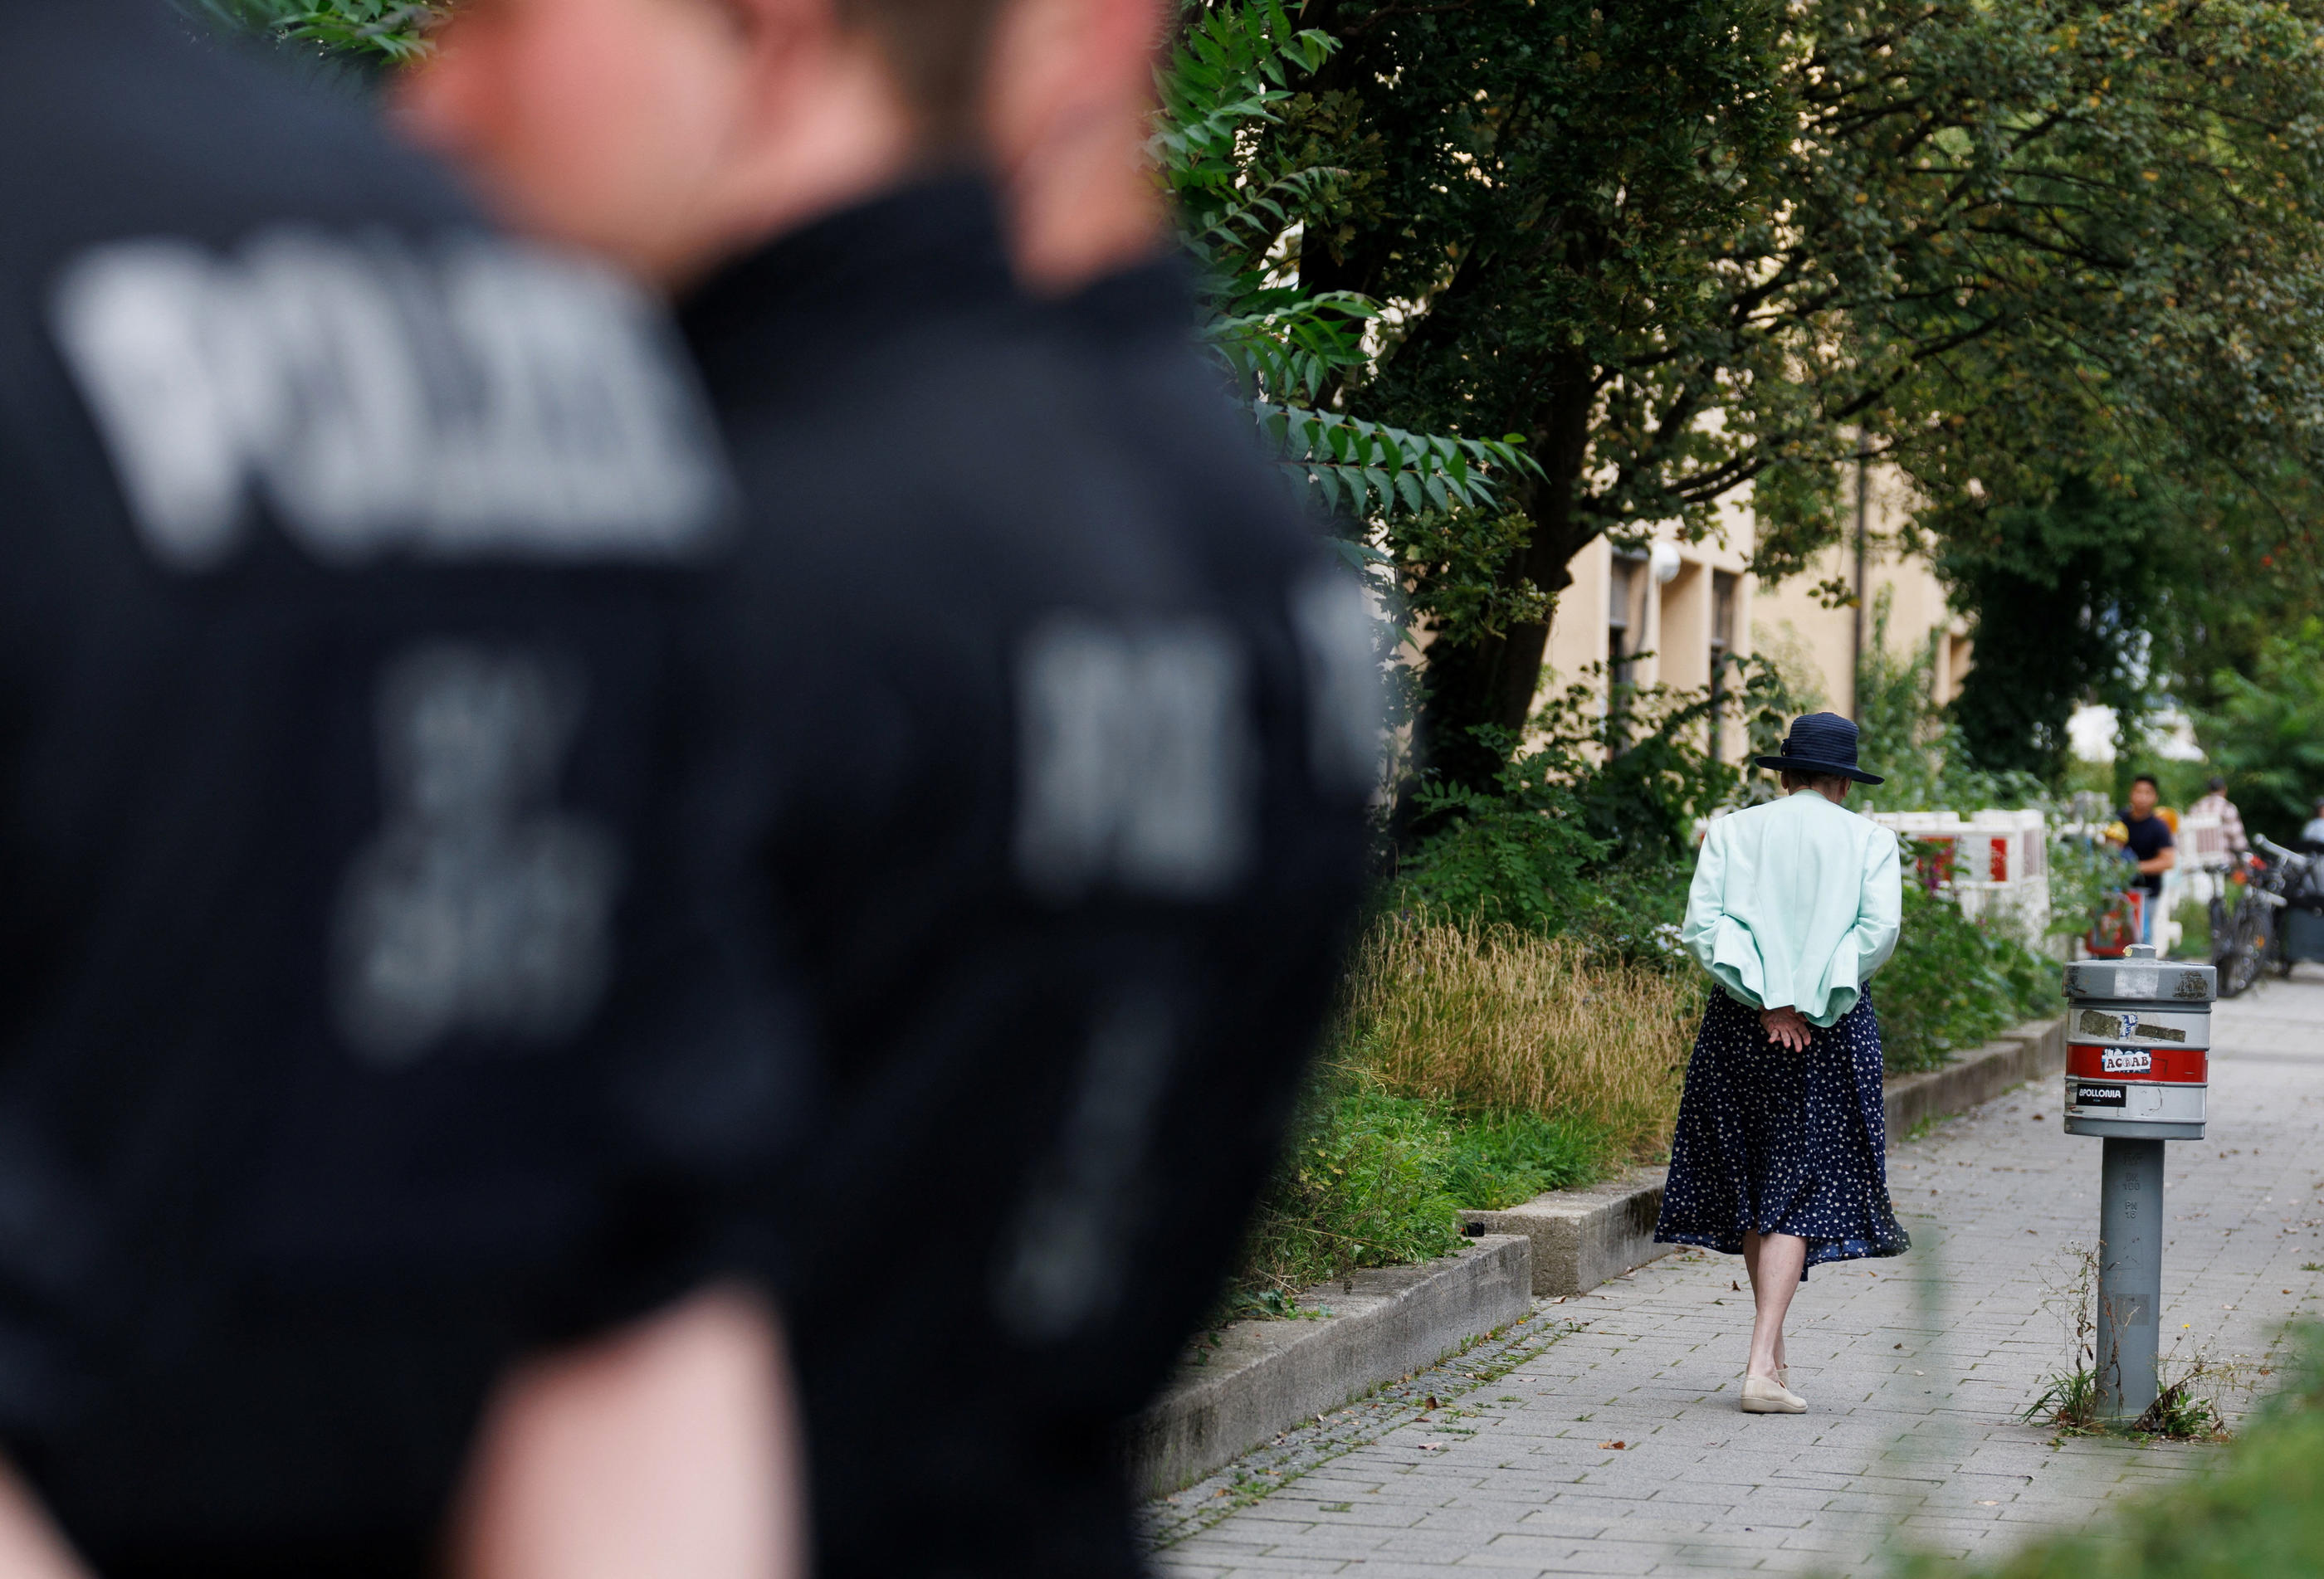
<path id="1" fill-rule="evenodd" d="M 458 1579 L 797 1579 L 783 1335 L 737 1291 L 511 1372 L 469 1465 Z"/>

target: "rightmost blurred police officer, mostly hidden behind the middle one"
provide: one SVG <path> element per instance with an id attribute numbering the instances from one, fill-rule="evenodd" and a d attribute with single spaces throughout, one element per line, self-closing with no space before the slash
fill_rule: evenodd
<path id="1" fill-rule="evenodd" d="M 1292 474 L 1260 455 L 1225 365 L 1197 346 L 1195 272 L 1146 153 L 1169 21 L 1155 0 L 1006 0 L 981 116 L 1009 251 L 1050 330 L 1106 390 L 1109 434 L 1176 541 L 1227 590 L 1253 641 L 1308 655 L 1308 769 L 1346 817 L 1380 773 L 1383 625 L 1353 576 L 1318 569 L 1315 522 Z M 1050 1386 L 1081 1389 L 1081 1403 L 1109 1384 L 1150 1393 L 1215 1298 L 1236 1228 L 1281 1156 L 1304 1073 L 1294 1054 L 1311 1045 L 1341 964 L 1341 936 L 1318 924 L 1327 908 L 1315 896 L 1348 880 L 1348 824 L 1297 817 L 1222 917 L 1215 936 L 1229 943 L 1206 971 L 1215 1019 L 1178 1068 L 1162 1140 L 1171 1210 L 1139 1219 L 1127 1298 L 1081 1333 L 1088 1361 L 1055 1368 Z"/>

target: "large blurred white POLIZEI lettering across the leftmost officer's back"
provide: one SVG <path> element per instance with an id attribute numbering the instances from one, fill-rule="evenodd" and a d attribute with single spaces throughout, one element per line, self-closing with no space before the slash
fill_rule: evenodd
<path id="1" fill-rule="evenodd" d="M 205 571 L 253 492 L 328 564 L 681 560 L 725 481 L 648 307 L 602 269 L 304 230 L 107 244 L 53 297 L 137 532 Z"/>

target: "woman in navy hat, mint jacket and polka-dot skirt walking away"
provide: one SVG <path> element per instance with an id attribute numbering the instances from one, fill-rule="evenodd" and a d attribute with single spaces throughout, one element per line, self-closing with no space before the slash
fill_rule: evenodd
<path id="1" fill-rule="evenodd" d="M 1710 824 L 1687 950 L 1717 978 L 1687 1064 L 1655 1238 L 1743 1256 L 1755 1319 L 1745 1414 L 1803 1414 L 1783 1317 L 1808 1268 L 1901 1256 L 1880 1110 L 1880 1022 L 1864 978 L 1896 947 L 1896 836 L 1850 813 L 1857 727 L 1792 722 L 1785 799 Z"/>

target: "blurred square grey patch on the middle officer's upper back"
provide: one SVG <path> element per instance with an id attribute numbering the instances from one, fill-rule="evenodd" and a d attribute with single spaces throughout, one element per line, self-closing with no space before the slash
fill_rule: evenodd
<path id="1" fill-rule="evenodd" d="M 1225 629 L 1055 620 L 1020 652 L 1018 715 L 1025 887 L 1208 899 L 1243 875 L 1257 750 L 1243 650 Z"/>

